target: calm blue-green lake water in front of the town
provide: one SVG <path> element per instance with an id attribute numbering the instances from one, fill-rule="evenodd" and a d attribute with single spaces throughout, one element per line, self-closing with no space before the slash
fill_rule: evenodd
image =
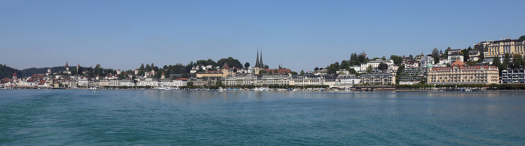
<path id="1" fill-rule="evenodd" d="M 525 92 L 7 89 L 0 145 L 525 145 Z"/>

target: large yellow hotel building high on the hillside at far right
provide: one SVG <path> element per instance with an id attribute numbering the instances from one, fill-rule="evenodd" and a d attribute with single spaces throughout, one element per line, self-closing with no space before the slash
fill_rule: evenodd
<path id="1" fill-rule="evenodd" d="M 502 39 L 499 41 L 492 41 L 488 45 L 488 50 L 485 53 L 485 57 L 497 57 L 505 53 L 520 54 L 522 57 L 525 55 L 525 40 L 511 40 Z"/>

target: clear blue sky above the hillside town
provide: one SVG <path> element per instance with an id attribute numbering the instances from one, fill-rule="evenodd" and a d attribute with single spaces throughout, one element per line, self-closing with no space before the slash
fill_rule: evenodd
<path id="1" fill-rule="evenodd" d="M 134 70 L 233 57 L 325 68 L 525 35 L 525 1 L 5 1 L 0 64 Z"/>

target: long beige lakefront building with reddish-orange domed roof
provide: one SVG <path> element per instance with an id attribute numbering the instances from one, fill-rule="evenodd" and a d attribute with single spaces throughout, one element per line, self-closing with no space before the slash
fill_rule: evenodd
<path id="1" fill-rule="evenodd" d="M 498 67 L 492 65 L 467 65 L 456 60 L 451 66 L 436 67 L 428 71 L 427 84 L 498 84 Z"/>

